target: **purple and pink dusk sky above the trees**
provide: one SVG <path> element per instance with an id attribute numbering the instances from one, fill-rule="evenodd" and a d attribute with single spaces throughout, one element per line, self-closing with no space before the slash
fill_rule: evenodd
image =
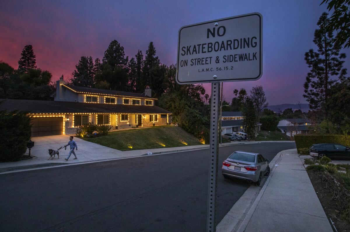
<path id="1" fill-rule="evenodd" d="M 147 2 L 147 3 L 146 3 Z M 270 105 L 306 103 L 303 83 L 309 68 L 304 53 L 316 48 L 316 23 L 326 6 L 321 0 L 300 1 L 15 1 L 0 5 L 0 60 L 17 68 L 21 51 L 31 44 L 37 67 L 57 80 L 69 77 L 80 56 L 102 59 L 112 40 L 130 58 L 146 53 L 153 41 L 162 63 L 176 62 L 180 27 L 234 15 L 259 12 L 263 16 L 263 75 L 258 81 L 226 82 L 224 96 L 233 89 L 264 87 Z M 348 49 L 345 49 L 346 53 Z M 344 67 L 349 67 L 346 59 Z M 204 84 L 210 94 L 210 84 Z"/>

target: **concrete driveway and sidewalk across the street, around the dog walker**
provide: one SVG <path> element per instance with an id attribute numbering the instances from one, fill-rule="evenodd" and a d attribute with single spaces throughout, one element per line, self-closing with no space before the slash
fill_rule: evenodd
<path id="1" fill-rule="evenodd" d="M 79 164 L 79 163 L 86 163 L 86 162 L 98 162 L 98 161 L 107 161 L 107 160 L 113 160 L 113 159 L 138 157 L 138 156 L 148 155 L 149 153 L 152 153 L 151 155 L 156 155 L 160 153 L 170 153 L 170 152 L 209 148 L 209 145 L 195 145 L 195 146 L 180 146 L 180 147 L 174 147 L 174 148 L 120 151 L 120 150 L 112 149 L 96 143 L 91 143 L 77 137 L 75 137 L 74 139 L 78 145 L 78 150 L 76 151 L 78 159 L 73 159 L 74 156 L 72 155 L 68 162 L 65 161 L 64 158 L 67 158 L 69 150 L 64 150 L 64 148 L 59 150 L 60 152 L 59 159 L 57 158 L 57 156 L 54 159 L 49 159 L 50 156 L 48 154 L 48 149 L 58 149 L 60 146 L 66 145 L 67 141 L 69 140 L 68 135 L 34 137 L 33 141 L 35 141 L 35 146 L 31 149 L 31 155 L 35 157 L 33 157 L 32 159 L 26 159 L 26 160 L 21 160 L 17 162 L 0 163 L 0 173 L 13 171 L 13 170 L 21 170 L 21 169 L 41 168 L 45 166 Z M 294 142 L 294 141 L 264 141 L 264 143 L 265 142 Z M 259 141 L 230 142 L 230 143 L 220 144 L 220 146 L 252 144 L 252 143 L 260 143 L 260 142 Z M 28 154 L 28 150 L 26 153 Z"/>

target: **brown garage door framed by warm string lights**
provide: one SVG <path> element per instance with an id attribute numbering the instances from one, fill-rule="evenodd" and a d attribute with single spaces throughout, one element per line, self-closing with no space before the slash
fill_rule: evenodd
<path id="1" fill-rule="evenodd" d="M 63 134 L 63 117 L 38 117 L 31 120 L 31 136 Z"/>

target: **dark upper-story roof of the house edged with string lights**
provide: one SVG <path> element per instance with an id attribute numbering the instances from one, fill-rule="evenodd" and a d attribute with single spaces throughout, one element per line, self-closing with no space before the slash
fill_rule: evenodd
<path id="1" fill-rule="evenodd" d="M 140 93 L 118 91 L 118 90 L 96 89 L 96 88 L 81 87 L 81 86 L 68 86 L 66 84 L 62 84 L 62 86 L 78 94 L 96 94 L 96 95 L 107 95 L 107 96 L 117 96 L 117 97 L 138 97 L 138 98 L 157 100 L 157 98 L 146 96 L 144 93 L 140 94 Z"/>

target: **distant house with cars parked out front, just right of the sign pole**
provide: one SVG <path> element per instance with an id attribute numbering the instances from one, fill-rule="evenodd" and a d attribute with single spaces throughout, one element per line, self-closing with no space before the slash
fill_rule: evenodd
<path id="1" fill-rule="evenodd" d="M 221 117 L 221 134 L 245 131 L 243 119 L 244 117 L 240 111 L 223 111 Z M 257 123 L 257 130 L 260 130 L 260 126 L 261 123 Z"/>

